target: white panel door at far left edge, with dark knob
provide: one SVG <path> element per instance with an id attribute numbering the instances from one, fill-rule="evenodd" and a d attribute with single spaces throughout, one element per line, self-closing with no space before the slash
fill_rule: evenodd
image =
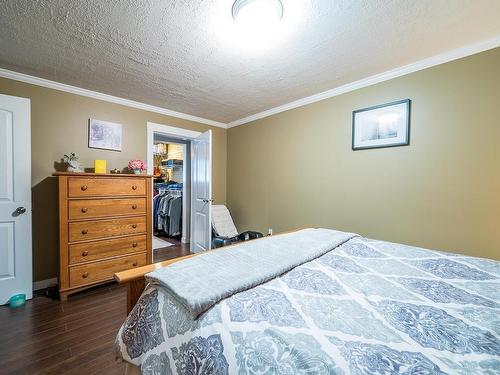
<path id="1" fill-rule="evenodd" d="M 0 95 L 0 305 L 33 296 L 30 101 Z"/>

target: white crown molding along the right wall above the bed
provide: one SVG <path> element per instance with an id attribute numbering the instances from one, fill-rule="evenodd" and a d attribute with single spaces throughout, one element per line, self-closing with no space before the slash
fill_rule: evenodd
<path id="1" fill-rule="evenodd" d="M 376 83 L 388 81 L 393 78 L 401 77 L 410 73 L 417 72 L 419 70 L 431 68 L 436 65 L 444 64 L 453 60 L 461 59 L 476 53 L 487 51 L 489 49 L 497 48 L 500 46 L 500 35 L 493 39 L 484 40 L 482 42 L 468 45 L 465 47 L 457 48 L 452 51 L 444 52 L 439 55 L 435 55 L 424 60 L 417 61 L 412 64 L 404 65 L 399 68 L 388 70 L 384 73 L 376 74 L 367 78 L 360 79 L 359 81 L 354 81 L 347 83 L 342 86 L 338 86 L 334 89 L 320 92 L 319 94 L 311 95 L 302 99 L 295 100 L 293 102 L 283 104 L 281 106 L 268 109 L 263 112 L 256 113 L 254 115 L 241 118 L 236 121 L 232 121 L 227 124 L 227 128 L 233 128 L 235 126 L 240 126 L 247 124 L 249 122 L 260 120 L 265 117 L 269 117 L 281 112 L 288 111 L 290 109 L 305 106 L 307 104 L 319 102 L 324 99 L 332 98 L 341 94 L 345 94 L 350 91 L 361 89 L 363 87 L 371 86 Z"/>

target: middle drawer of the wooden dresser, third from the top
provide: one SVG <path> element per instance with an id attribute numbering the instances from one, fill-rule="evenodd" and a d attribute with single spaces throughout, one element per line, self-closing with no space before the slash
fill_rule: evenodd
<path id="1" fill-rule="evenodd" d="M 146 217 L 81 221 L 69 223 L 68 227 L 70 242 L 139 234 L 146 233 Z"/>

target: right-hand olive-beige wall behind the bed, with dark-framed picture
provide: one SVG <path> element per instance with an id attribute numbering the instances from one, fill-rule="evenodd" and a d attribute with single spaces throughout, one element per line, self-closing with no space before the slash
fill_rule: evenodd
<path id="1" fill-rule="evenodd" d="M 353 110 L 405 98 L 410 146 L 351 150 Z M 229 129 L 228 205 L 240 230 L 500 259 L 500 48 Z"/>

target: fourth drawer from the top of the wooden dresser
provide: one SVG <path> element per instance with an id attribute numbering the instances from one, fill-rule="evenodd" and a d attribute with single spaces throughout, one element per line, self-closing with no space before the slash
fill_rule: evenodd
<path id="1" fill-rule="evenodd" d="M 71 244 L 69 245 L 69 263 L 82 263 L 138 252 L 146 252 L 145 234 L 112 240 Z"/>

